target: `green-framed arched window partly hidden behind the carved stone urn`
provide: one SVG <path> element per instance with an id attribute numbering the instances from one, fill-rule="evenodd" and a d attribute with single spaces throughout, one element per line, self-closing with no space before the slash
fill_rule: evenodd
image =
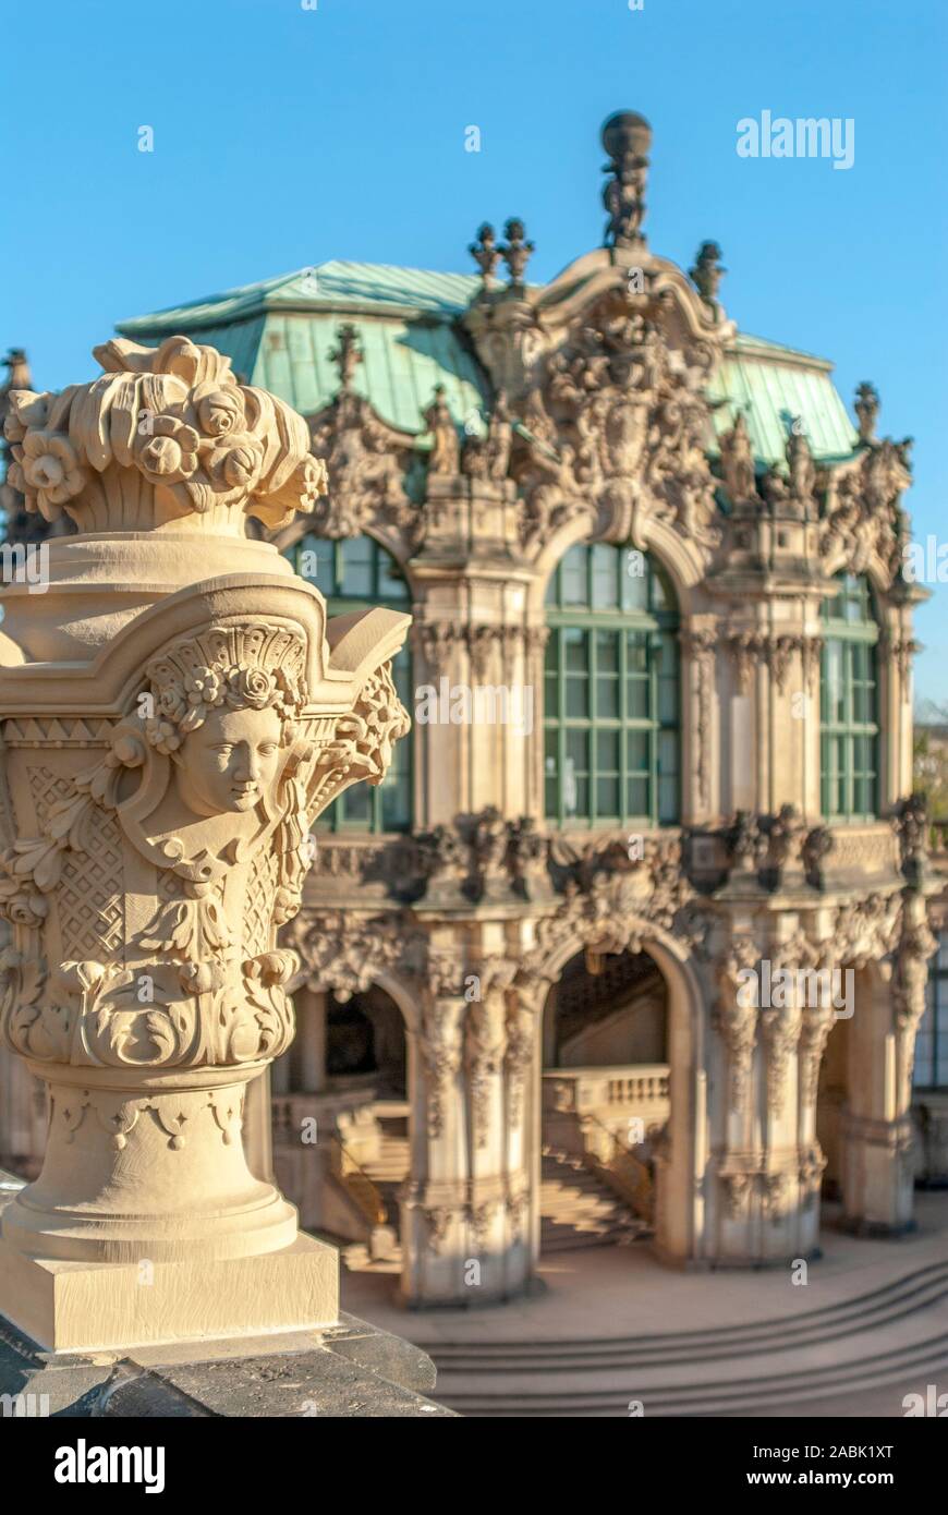
<path id="1" fill-rule="evenodd" d="M 326 595 L 329 615 L 371 609 L 410 608 L 409 586 L 395 559 L 371 536 L 326 541 L 303 536 L 288 558 L 304 579 Z M 392 677 L 406 709 L 412 708 L 412 654 L 403 647 L 392 661 Z M 389 771 L 379 786 L 354 783 L 317 821 L 332 832 L 403 832 L 412 824 L 412 738 L 395 742 Z"/>

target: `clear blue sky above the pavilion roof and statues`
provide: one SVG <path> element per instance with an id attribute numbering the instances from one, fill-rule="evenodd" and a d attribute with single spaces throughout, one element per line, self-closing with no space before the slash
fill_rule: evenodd
<path id="1" fill-rule="evenodd" d="M 848 405 L 874 380 L 916 439 L 915 535 L 948 539 L 943 0 L 45 0 L 3 33 L 0 344 L 42 388 L 117 320 L 268 274 L 471 270 L 483 218 L 522 217 L 548 279 L 600 244 L 598 129 L 636 109 L 650 244 L 689 267 L 716 238 L 739 326 L 831 358 Z M 739 158 L 765 109 L 851 117 L 853 168 Z M 946 611 L 940 585 L 918 615 L 928 698 Z"/>

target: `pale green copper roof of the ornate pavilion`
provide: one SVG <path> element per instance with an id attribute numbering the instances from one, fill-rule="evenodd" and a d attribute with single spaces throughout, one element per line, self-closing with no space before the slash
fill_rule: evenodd
<path id="1" fill-rule="evenodd" d="M 456 323 L 479 286 L 479 274 L 335 261 L 120 321 L 118 330 L 147 341 L 192 335 L 227 353 L 247 383 L 313 415 L 338 391 L 329 353 L 341 320 L 351 321 L 363 351 L 354 388 L 391 426 L 419 433 L 435 385 L 445 386 L 457 421 L 489 397 Z M 715 432 L 744 409 L 754 453 L 771 464 L 783 461 L 787 424 L 801 417 L 818 458 L 848 456 L 857 438 L 830 374 L 825 358 L 739 333 L 707 391 L 709 400 L 725 401 L 715 411 Z"/>

